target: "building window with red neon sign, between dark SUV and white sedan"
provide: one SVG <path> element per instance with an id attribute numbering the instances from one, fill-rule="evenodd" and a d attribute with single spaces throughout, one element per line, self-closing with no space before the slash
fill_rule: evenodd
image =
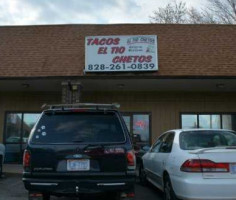
<path id="1" fill-rule="evenodd" d="M 149 113 L 123 113 L 126 126 L 133 138 L 135 150 L 150 145 L 150 114 Z"/>

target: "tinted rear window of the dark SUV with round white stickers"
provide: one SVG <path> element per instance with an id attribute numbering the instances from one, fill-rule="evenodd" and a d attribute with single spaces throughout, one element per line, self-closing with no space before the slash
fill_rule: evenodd
<path id="1" fill-rule="evenodd" d="M 124 141 L 124 131 L 115 112 L 44 113 L 32 137 L 33 143 L 43 144 Z"/>

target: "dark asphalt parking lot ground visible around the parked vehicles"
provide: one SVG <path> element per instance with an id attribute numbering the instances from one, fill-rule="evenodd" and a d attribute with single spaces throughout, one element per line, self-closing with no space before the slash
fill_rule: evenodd
<path id="1" fill-rule="evenodd" d="M 136 184 L 136 197 L 137 200 L 161 200 L 162 194 L 154 187 L 143 187 Z M 27 191 L 24 189 L 21 181 L 20 174 L 5 174 L 0 178 L 0 200 L 26 200 Z M 52 200 L 69 200 L 76 198 L 57 198 L 53 197 Z M 98 199 L 96 199 L 98 200 Z"/>

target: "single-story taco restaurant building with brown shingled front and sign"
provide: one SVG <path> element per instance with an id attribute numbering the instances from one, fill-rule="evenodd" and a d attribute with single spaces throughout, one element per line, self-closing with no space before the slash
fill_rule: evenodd
<path id="1" fill-rule="evenodd" d="M 236 130 L 235 25 L 0 27 L 0 142 L 21 162 L 41 106 L 121 105 L 135 144 L 176 128 Z"/>

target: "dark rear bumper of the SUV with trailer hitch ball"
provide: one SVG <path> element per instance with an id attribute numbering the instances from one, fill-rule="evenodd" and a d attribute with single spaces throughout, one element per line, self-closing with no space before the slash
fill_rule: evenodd
<path id="1" fill-rule="evenodd" d="M 104 192 L 123 192 L 134 190 L 135 178 L 112 179 L 40 179 L 23 178 L 29 191 L 57 195 L 96 194 Z"/>

